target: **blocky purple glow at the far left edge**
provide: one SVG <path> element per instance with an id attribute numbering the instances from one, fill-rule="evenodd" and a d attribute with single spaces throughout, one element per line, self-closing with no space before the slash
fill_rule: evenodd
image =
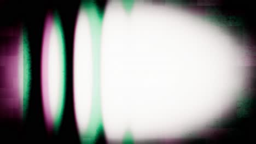
<path id="1" fill-rule="evenodd" d="M 21 28 L 19 26 L 8 27 L 2 35 L 0 47 L 1 87 L 0 87 L 0 118 L 21 119 L 21 87 L 19 60 Z"/>

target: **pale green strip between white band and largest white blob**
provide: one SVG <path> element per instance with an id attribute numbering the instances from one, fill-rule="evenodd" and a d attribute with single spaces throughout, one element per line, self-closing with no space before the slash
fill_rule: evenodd
<path id="1" fill-rule="evenodd" d="M 88 15 L 92 38 L 92 106 L 88 128 L 80 134 L 82 143 L 95 143 L 98 135 L 103 131 L 101 94 L 100 94 L 100 49 L 102 17 L 94 1 L 83 1 L 81 10 Z"/>

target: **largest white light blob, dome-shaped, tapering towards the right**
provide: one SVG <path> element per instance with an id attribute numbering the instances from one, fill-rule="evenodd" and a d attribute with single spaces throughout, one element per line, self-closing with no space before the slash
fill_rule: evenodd
<path id="1" fill-rule="evenodd" d="M 103 20 L 101 97 L 109 141 L 178 139 L 235 104 L 246 83 L 231 35 L 181 9 L 109 3 Z"/>

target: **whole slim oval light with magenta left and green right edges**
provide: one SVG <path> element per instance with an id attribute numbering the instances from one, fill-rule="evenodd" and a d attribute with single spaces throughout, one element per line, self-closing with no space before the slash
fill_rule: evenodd
<path id="1" fill-rule="evenodd" d="M 45 20 L 42 46 L 42 100 L 48 131 L 58 131 L 65 101 L 65 43 L 57 13 Z"/>

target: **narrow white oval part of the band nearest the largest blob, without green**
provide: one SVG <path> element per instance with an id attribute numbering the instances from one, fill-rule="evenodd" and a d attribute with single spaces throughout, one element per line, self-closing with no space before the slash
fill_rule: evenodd
<path id="1" fill-rule="evenodd" d="M 92 100 L 92 40 L 88 16 L 78 15 L 74 37 L 74 109 L 80 134 L 88 128 Z"/>

